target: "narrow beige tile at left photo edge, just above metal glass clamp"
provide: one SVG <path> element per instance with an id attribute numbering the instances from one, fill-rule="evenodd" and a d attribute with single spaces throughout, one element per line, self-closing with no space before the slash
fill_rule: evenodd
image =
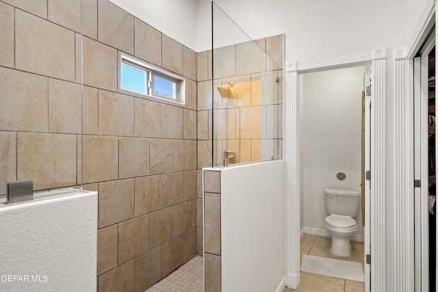
<path id="1" fill-rule="evenodd" d="M 16 181 L 16 133 L 0 132 L 0 196 L 10 181 Z"/>

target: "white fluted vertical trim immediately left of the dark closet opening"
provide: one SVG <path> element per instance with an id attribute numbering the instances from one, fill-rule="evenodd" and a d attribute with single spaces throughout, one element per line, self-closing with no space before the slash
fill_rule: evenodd
<path id="1" fill-rule="evenodd" d="M 394 291 L 414 291 L 413 100 L 409 95 L 409 62 L 405 48 L 394 50 L 396 102 L 394 139 L 394 194 L 396 268 Z"/>

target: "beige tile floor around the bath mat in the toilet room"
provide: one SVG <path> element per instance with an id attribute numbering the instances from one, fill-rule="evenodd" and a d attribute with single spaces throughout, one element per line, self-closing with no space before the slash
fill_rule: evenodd
<path id="1" fill-rule="evenodd" d="M 334 256 L 330 253 L 331 238 L 316 235 L 304 235 L 300 243 L 300 254 L 336 258 L 346 261 L 362 263 L 363 266 L 363 242 L 351 241 L 351 256 Z M 365 284 L 352 280 L 332 278 L 318 274 L 300 272 L 300 286 L 293 290 L 286 288 L 283 292 L 363 292 Z"/>

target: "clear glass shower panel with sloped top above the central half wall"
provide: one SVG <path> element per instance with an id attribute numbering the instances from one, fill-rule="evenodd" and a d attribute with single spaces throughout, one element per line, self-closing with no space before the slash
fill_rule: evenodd
<path id="1" fill-rule="evenodd" d="M 281 159 L 282 70 L 212 3 L 212 166 Z"/>

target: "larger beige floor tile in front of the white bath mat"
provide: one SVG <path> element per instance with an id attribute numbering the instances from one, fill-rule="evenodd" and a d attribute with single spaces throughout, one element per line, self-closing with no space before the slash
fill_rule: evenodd
<path id="1" fill-rule="evenodd" d="M 300 292 L 344 292 L 345 280 L 300 272 Z"/>

